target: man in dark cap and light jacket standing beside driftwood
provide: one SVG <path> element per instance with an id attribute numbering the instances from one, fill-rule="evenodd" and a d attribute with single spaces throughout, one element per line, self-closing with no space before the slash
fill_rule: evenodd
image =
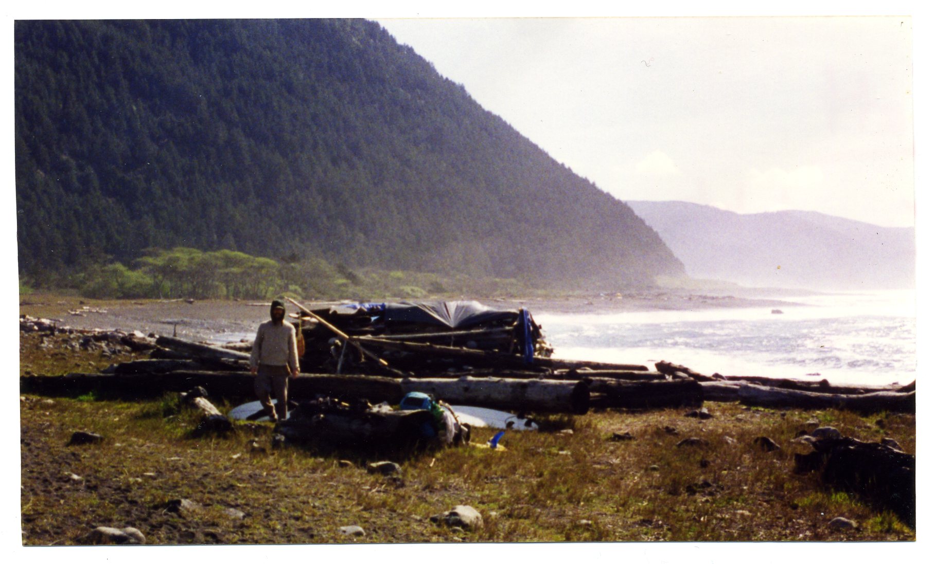
<path id="1" fill-rule="evenodd" d="M 295 328 L 285 322 L 286 306 L 275 300 L 269 308 L 269 321 L 260 324 L 249 355 L 249 372 L 256 374 L 253 390 L 273 421 L 284 421 L 289 401 L 289 377 L 298 376 L 298 346 Z M 276 397 L 276 410 L 270 393 Z"/>

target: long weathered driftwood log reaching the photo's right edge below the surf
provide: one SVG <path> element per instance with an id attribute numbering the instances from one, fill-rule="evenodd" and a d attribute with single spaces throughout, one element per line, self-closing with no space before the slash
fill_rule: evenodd
<path id="1" fill-rule="evenodd" d="M 745 384 L 739 389 L 738 395 L 741 402 L 761 407 L 797 407 L 805 409 L 834 407 L 860 413 L 879 411 L 914 413 L 914 393 L 880 391 L 862 395 L 827 394 Z"/>

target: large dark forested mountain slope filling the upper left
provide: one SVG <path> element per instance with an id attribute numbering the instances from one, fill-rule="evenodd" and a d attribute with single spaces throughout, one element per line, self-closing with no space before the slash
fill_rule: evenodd
<path id="1" fill-rule="evenodd" d="M 630 207 L 373 21 L 16 21 L 40 280 L 148 247 L 605 288 L 683 275 Z"/>

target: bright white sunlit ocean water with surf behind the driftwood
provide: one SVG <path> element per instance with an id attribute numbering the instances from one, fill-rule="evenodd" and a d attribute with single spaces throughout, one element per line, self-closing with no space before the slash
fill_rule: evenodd
<path id="1" fill-rule="evenodd" d="M 914 290 L 778 298 L 800 305 L 615 314 L 533 312 L 555 357 L 683 364 L 702 374 L 908 384 Z"/>

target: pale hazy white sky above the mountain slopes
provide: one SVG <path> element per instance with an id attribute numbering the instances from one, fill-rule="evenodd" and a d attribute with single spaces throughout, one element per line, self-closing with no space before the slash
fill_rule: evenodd
<path id="1" fill-rule="evenodd" d="M 913 224 L 910 18 L 378 21 L 622 200 Z"/>

